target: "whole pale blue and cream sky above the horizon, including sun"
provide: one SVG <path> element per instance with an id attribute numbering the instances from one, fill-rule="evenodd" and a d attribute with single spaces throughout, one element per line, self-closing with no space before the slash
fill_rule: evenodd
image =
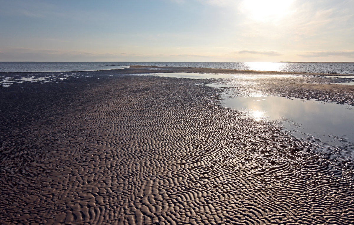
<path id="1" fill-rule="evenodd" d="M 354 61 L 354 0 L 0 0 L 0 61 Z"/>

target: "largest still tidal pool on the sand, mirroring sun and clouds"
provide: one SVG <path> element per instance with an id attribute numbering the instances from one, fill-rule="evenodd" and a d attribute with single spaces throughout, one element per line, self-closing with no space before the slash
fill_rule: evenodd
<path id="1" fill-rule="evenodd" d="M 227 97 L 222 105 L 241 109 L 256 121 L 280 120 L 298 137 L 309 134 L 329 144 L 336 142 L 337 146 L 354 143 L 353 106 L 277 96 Z"/>

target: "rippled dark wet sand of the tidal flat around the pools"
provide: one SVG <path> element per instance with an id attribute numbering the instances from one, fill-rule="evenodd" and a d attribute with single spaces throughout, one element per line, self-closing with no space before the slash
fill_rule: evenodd
<path id="1" fill-rule="evenodd" d="M 351 85 L 317 81 L 253 88 L 353 104 Z M 0 224 L 354 224 L 353 158 L 238 117 L 217 106 L 221 90 L 194 85 L 206 82 L 103 76 L 1 89 Z"/>

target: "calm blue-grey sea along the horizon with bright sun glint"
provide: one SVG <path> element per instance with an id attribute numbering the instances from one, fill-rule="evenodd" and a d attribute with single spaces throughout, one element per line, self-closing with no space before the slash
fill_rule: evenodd
<path id="1" fill-rule="evenodd" d="M 216 63 L 216 62 L 0 62 L 0 72 L 95 71 L 129 65 L 200 67 L 235 70 L 354 74 L 354 63 Z"/>

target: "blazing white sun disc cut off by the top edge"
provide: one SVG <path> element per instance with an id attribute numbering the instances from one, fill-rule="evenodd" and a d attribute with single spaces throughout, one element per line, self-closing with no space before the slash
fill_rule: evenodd
<path id="1" fill-rule="evenodd" d="M 244 0 L 240 10 L 259 22 L 279 21 L 291 13 L 292 3 L 293 0 Z"/>

